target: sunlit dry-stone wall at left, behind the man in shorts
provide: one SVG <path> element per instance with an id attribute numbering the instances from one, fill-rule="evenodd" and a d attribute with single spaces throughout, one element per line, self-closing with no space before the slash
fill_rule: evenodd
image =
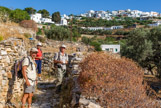
<path id="1" fill-rule="evenodd" d="M 17 106 L 23 93 L 23 81 L 14 73 L 14 63 L 27 55 L 20 38 L 0 42 L 0 108 Z"/>

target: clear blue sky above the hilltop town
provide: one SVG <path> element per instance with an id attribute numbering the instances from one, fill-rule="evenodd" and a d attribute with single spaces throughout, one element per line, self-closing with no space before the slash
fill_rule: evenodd
<path id="1" fill-rule="evenodd" d="M 161 13 L 161 0 L 0 0 L 0 6 L 24 9 L 33 7 L 36 10 L 46 9 L 52 14 L 79 15 L 88 10 L 124 10 L 156 11 Z"/>

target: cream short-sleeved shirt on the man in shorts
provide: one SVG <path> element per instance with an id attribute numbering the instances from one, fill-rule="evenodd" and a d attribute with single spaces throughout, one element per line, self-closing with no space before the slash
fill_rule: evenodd
<path id="1" fill-rule="evenodd" d="M 28 56 L 28 57 L 30 59 L 31 64 L 29 65 L 29 59 L 26 57 L 22 62 L 22 66 L 27 66 L 27 69 L 26 69 L 27 78 L 30 84 L 34 85 L 34 80 L 36 80 L 36 77 L 37 77 L 36 76 L 36 63 L 35 63 L 35 60 L 31 58 L 31 56 Z"/>

